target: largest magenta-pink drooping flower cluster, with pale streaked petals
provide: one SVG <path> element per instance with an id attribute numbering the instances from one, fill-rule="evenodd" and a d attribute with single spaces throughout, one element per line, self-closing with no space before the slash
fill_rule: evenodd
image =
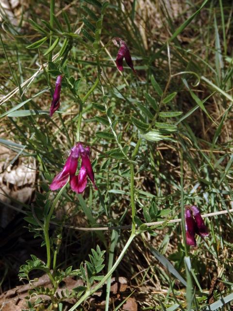
<path id="1" fill-rule="evenodd" d="M 81 168 L 79 174 L 75 175 L 80 156 L 82 159 Z M 97 190 L 94 172 L 90 161 L 90 148 L 84 148 L 82 143 L 78 142 L 73 148 L 71 148 L 70 155 L 68 156 L 62 171 L 54 177 L 50 185 L 50 190 L 62 188 L 69 179 L 71 189 L 77 193 L 82 193 L 86 188 L 87 176 L 93 183 L 94 189 Z"/>

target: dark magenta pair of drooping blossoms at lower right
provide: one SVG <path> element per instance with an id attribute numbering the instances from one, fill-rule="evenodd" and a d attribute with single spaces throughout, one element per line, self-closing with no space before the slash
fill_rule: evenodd
<path id="1" fill-rule="evenodd" d="M 200 210 L 196 206 L 185 207 L 185 230 L 186 230 L 186 242 L 188 245 L 196 246 L 197 242 L 195 234 L 205 238 L 209 235 L 208 228 L 205 225 Z"/>

